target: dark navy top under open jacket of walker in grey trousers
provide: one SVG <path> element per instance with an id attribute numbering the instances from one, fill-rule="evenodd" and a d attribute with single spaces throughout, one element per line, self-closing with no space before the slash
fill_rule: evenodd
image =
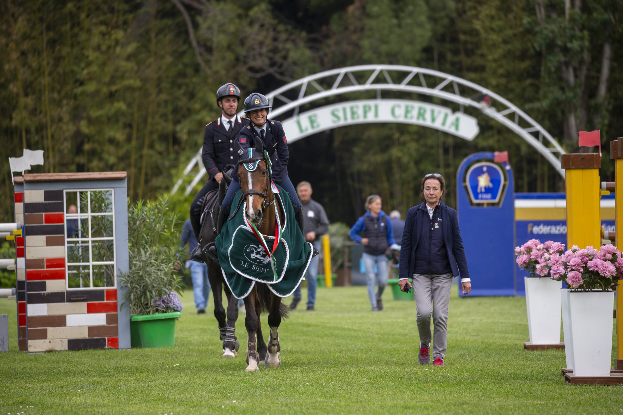
<path id="1" fill-rule="evenodd" d="M 426 210 L 426 208 L 424 208 Z M 432 220 L 428 211 L 424 215 L 424 223 L 420 234 L 420 241 L 416 248 L 416 267 L 414 273 L 428 274 L 448 274 L 452 273 L 448 254 L 445 251 L 444 234 L 442 233 L 441 206 L 435 206 Z"/>

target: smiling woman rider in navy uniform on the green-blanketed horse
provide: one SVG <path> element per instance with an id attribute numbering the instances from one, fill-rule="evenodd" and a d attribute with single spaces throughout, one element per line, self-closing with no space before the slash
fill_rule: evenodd
<path id="1" fill-rule="evenodd" d="M 287 192 L 292 201 L 294 212 L 297 213 L 298 226 L 303 232 L 303 208 L 298 200 L 297 191 L 288 178 L 288 159 L 290 158 L 288 142 L 281 123 L 268 119 L 269 108 L 269 100 L 260 93 L 252 93 L 244 100 L 244 112 L 251 122 L 240 131 L 239 142 L 240 147 L 242 147 L 240 154 L 244 154 L 245 150 L 254 146 L 254 137 L 262 139 L 272 163 L 272 181 Z M 238 190 L 240 190 L 240 179 L 235 174 L 221 206 L 221 212 L 225 217 L 229 215 L 234 196 Z M 219 225 L 222 219 L 219 218 Z"/>

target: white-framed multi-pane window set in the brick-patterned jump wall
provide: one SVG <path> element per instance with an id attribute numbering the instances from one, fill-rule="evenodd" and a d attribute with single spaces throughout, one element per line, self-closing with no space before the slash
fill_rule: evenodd
<path id="1" fill-rule="evenodd" d="M 87 192 L 87 206 L 88 212 L 82 213 L 80 212 L 80 196 L 79 193 Z M 91 192 L 110 192 L 110 202 L 112 212 L 108 213 L 91 213 Z M 77 205 L 78 213 L 67 213 L 67 193 L 75 193 L 77 194 Z M 117 243 L 115 241 L 116 234 L 116 226 L 115 226 L 115 189 L 64 189 L 63 190 L 63 207 L 64 207 L 64 233 L 65 233 L 65 286 L 67 291 L 77 291 L 77 290 L 92 290 L 92 289 L 113 289 L 117 288 Z M 92 238 L 92 227 L 91 227 L 91 218 L 94 216 L 110 216 L 113 222 L 113 236 L 112 237 L 102 237 L 102 238 Z M 67 220 L 69 219 L 77 219 L 78 223 L 80 223 L 80 219 L 88 218 L 88 238 L 72 238 L 71 241 L 76 242 L 85 242 L 88 243 L 88 263 L 69 263 L 69 258 L 67 258 Z M 82 228 L 80 228 L 82 231 Z M 79 236 L 79 235 L 78 235 Z M 93 241 L 113 241 L 113 261 L 97 261 L 93 262 Z M 82 265 L 88 266 L 89 269 L 89 284 L 90 287 L 70 287 L 69 286 L 69 266 Z M 113 266 L 113 281 L 114 284 L 110 287 L 93 287 L 93 266 L 94 265 L 112 265 Z"/>

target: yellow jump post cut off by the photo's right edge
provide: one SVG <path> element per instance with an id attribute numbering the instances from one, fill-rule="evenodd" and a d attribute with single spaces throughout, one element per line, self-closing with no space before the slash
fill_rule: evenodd
<path id="1" fill-rule="evenodd" d="M 610 158 L 614 159 L 614 226 L 616 245 L 623 248 L 623 138 L 610 142 Z M 623 368 L 623 286 L 617 286 L 617 355 L 614 367 Z"/>

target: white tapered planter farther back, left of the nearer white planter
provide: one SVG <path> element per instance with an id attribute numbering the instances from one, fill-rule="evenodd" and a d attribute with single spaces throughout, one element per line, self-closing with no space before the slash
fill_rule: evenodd
<path id="1" fill-rule="evenodd" d="M 560 343 L 561 281 L 524 277 L 528 331 L 533 345 Z"/>

